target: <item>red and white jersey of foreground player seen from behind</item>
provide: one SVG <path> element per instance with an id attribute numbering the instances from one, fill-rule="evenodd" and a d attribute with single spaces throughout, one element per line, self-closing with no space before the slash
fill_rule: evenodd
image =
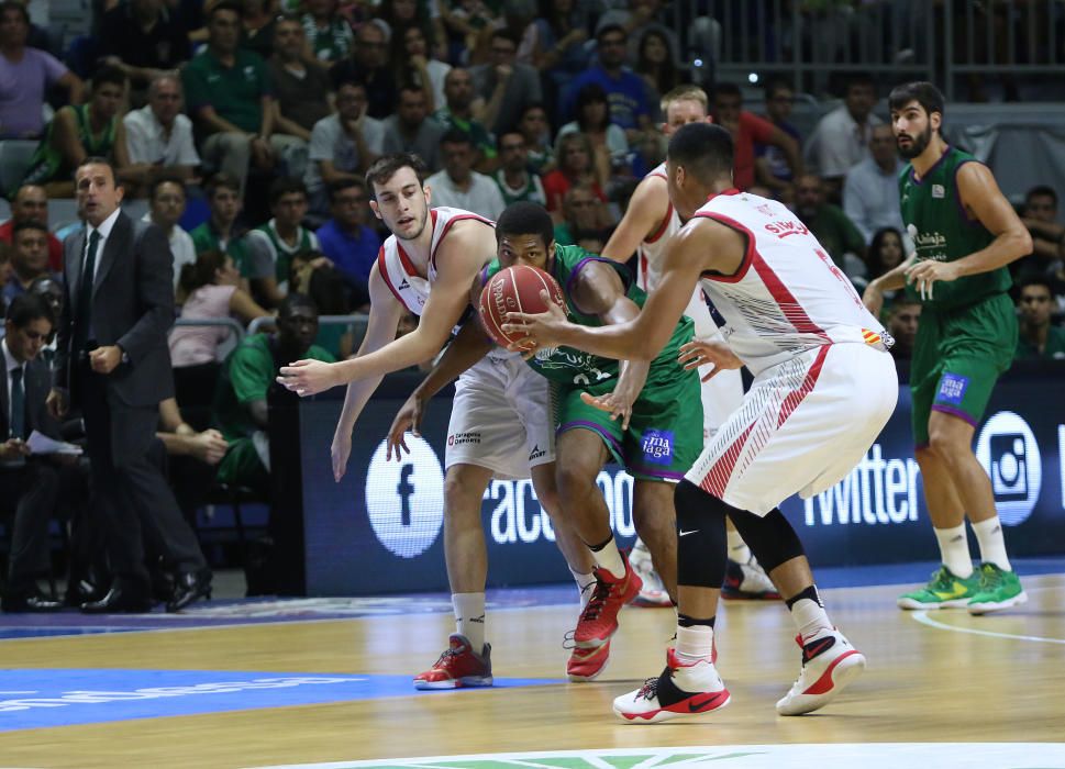
<path id="1" fill-rule="evenodd" d="M 729 190 L 710 198 L 696 216 L 747 237 L 735 275 L 703 272 L 700 282 L 725 320 L 722 334 L 753 374 L 819 345 L 856 342 L 886 348 L 881 339 L 890 337 L 884 326 L 785 205 Z"/>

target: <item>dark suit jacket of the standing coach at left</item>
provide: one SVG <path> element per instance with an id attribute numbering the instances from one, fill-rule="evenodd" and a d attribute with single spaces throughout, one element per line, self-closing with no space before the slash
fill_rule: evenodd
<path id="1" fill-rule="evenodd" d="M 66 293 L 57 333 L 56 387 L 70 387 L 78 352 L 73 349 L 78 317 L 86 230 L 63 244 Z M 119 345 L 129 361 L 107 378 L 108 401 L 130 406 L 158 406 L 174 394 L 167 332 L 174 325 L 174 257 L 166 235 L 155 224 L 120 213 L 103 245 L 92 282 L 92 336 L 99 346 Z"/>

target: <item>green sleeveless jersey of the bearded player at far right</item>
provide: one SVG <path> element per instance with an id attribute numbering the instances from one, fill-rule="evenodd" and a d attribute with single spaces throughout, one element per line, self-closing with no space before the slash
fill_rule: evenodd
<path id="1" fill-rule="evenodd" d="M 969 219 L 962 205 L 957 170 L 972 161 L 977 160 L 968 153 L 947 147 L 922 179 L 914 178 L 912 165 L 902 170 L 899 177 L 902 221 L 913 237 L 919 260 L 954 261 L 986 248 L 995 239 L 979 221 Z M 936 282 L 934 298 L 925 299 L 923 303 L 943 310 L 962 308 L 1008 291 L 1011 285 L 1009 270 L 999 267 L 990 272 Z M 912 299 L 921 301 L 912 285 L 906 290 Z"/>

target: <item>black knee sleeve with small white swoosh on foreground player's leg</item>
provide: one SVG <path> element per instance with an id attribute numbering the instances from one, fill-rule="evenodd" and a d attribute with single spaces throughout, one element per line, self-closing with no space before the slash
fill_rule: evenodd
<path id="1" fill-rule="evenodd" d="M 673 500 L 677 510 L 677 583 L 720 588 L 728 562 L 724 519 L 729 505 L 687 480 L 677 483 Z"/>

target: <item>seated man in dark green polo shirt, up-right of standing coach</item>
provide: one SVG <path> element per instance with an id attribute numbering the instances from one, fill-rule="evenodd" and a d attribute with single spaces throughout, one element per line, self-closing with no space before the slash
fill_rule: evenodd
<path id="1" fill-rule="evenodd" d="M 220 0 L 208 10 L 207 47 L 181 70 L 189 115 L 203 136 L 201 154 L 243 191 L 248 164 L 270 171 L 293 136 L 274 132 L 274 97 L 266 63 L 240 47 L 241 7 Z"/>

